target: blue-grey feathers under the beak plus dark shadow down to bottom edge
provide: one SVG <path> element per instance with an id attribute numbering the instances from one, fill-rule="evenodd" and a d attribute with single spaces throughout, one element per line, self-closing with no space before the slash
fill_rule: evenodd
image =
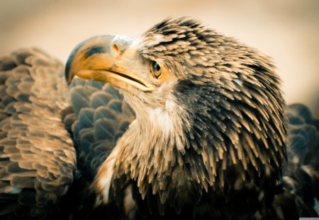
<path id="1" fill-rule="evenodd" d="M 101 82 L 74 79 L 69 86 L 72 113 L 65 117 L 77 151 L 77 179 L 69 197 L 74 197 L 72 219 L 103 219 L 110 209 L 96 207 L 90 185 L 101 163 L 135 119 L 123 95 Z"/>

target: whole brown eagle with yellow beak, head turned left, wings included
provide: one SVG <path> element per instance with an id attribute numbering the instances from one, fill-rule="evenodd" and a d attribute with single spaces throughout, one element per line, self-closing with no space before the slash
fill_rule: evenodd
<path id="1" fill-rule="evenodd" d="M 1 219 L 318 217 L 319 120 L 275 69 L 184 17 L 1 58 Z"/>

